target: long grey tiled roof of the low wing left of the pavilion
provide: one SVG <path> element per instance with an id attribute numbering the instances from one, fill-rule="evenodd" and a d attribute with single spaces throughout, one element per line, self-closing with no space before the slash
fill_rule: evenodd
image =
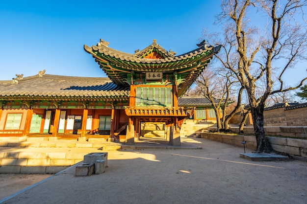
<path id="1" fill-rule="evenodd" d="M 14 80 L 13 80 L 14 81 Z M 57 97 L 80 98 L 128 97 L 129 87 L 120 87 L 109 78 L 34 75 L 18 79 L 15 83 L 0 81 L 0 99 L 5 97 Z"/>

